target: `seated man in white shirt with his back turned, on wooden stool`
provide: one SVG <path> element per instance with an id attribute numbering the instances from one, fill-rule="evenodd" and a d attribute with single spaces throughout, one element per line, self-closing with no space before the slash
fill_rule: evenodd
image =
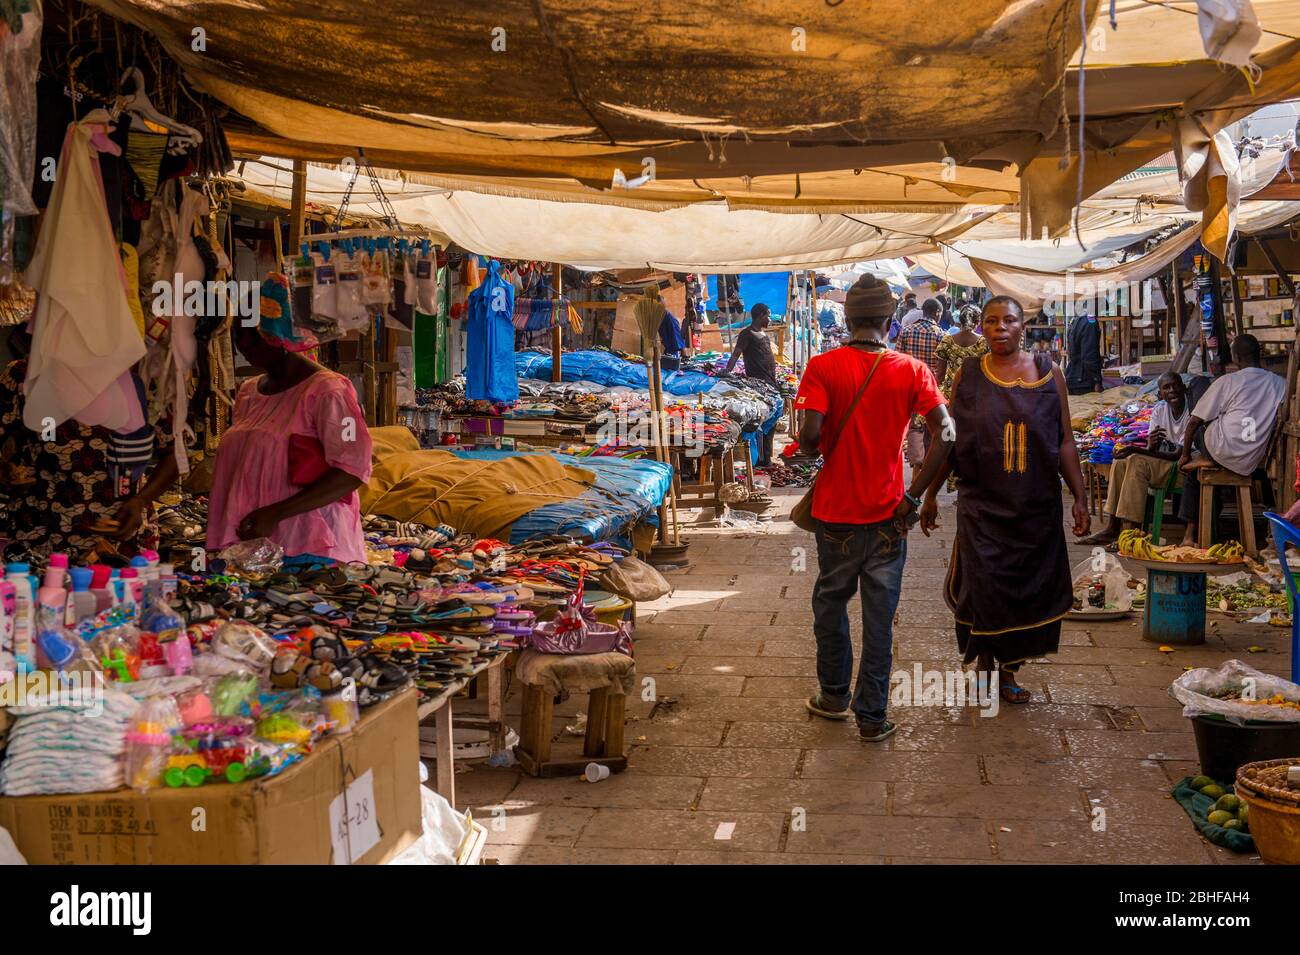
<path id="1" fill-rule="evenodd" d="M 1238 370 L 1210 385 L 1196 403 L 1183 435 L 1178 466 L 1183 472 L 1179 513 L 1187 521 L 1184 544 L 1196 543 L 1201 502 L 1197 472 L 1217 466 L 1242 476 L 1252 474 L 1264 464 L 1278 420 L 1278 405 L 1287 396 L 1286 381 L 1260 368 L 1260 339 L 1254 335 L 1232 339 L 1232 363 Z M 1200 453 L 1193 455 L 1193 450 Z"/>

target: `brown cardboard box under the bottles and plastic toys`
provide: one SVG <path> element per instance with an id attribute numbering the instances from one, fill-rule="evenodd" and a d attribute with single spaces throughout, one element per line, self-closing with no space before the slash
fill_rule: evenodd
<path id="1" fill-rule="evenodd" d="M 36 865 L 325 865 L 347 861 L 350 843 L 354 861 L 385 863 L 421 832 L 416 693 L 368 709 L 278 776 L 0 798 L 0 825 Z"/>

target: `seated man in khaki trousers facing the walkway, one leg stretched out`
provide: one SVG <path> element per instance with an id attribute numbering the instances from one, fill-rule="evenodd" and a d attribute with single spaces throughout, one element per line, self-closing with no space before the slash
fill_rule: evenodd
<path id="1" fill-rule="evenodd" d="M 1157 383 L 1161 400 L 1150 412 L 1147 446 L 1115 448 L 1106 491 L 1105 513 L 1109 521 L 1079 543 L 1109 544 L 1119 538 L 1119 531 L 1140 526 L 1147 513 L 1148 489 L 1161 487 L 1178 461 L 1191 420 L 1187 386 L 1176 372 L 1165 372 Z"/>

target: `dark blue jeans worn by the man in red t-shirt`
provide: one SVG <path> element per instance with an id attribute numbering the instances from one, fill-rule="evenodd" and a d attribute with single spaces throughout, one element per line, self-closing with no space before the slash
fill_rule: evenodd
<path id="1" fill-rule="evenodd" d="M 879 724 L 889 702 L 893 664 L 893 616 L 902 589 L 907 537 L 892 520 L 879 524 L 820 524 L 816 531 L 818 578 L 812 587 L 812 633 L 822 700 L 850 707 L 858 725 Z M 849 600 L 862 590 L 862 660 L 853 681 Z"/>

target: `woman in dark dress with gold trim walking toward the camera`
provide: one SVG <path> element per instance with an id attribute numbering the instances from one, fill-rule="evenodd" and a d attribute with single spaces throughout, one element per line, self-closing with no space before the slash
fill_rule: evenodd
<path id="1" fill-rule="evenodd" d="M 1024 312 L 1015 299 L 991 299 L 982 324 L 989 353 L 966 359 L 953 382 L 957 538 L 944 596 L 963 661 L 982 672 L 997 667 L 1002 699 L 1027 703 L 1015 672 L 1056 652 L 1074 599 L 1061 478 L 1074 495 L 1076 535 L 1088 533 L 1088 507 L 1065 376 L 1046 353 L 1020 351 Z M 945 477 L 946 469 L 926 494 L 927 535 Z"/>

